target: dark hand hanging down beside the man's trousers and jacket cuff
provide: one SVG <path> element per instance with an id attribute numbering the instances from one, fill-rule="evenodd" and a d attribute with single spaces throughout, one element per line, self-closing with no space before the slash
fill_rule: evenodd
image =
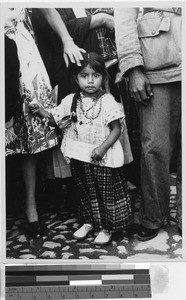
<path id="1" fill-rule="evenodd" d="M 139 67 L 129 70 L 128 76 L 131 97 L 137 102 L 148 105 L 150 98 L 153 96 L 149 79 Z"/>

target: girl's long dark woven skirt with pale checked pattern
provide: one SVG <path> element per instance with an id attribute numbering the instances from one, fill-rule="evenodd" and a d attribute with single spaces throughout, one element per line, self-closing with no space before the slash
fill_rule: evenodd
<path id="1" fill-rule="evenodd" d="M 71 172 L 80 197 L 80 223 L 92 223 L 95 230 L 116 232 L 133 222 L 131 200 L 122 167 L 100 167 L 71 159 Z"/>

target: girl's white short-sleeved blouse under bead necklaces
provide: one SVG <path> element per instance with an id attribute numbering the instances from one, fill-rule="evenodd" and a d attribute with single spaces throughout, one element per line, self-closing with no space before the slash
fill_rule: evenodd
<path id="1" fill-rule="evenodd" d="M 56 124 L 62 128 L 62 118 L 70 116 L 74 94 L 65 97 L 61 104 L 52 109 Z M 107 93 L 97 100 L 81 98 L 77 102 L 77 122 L 71 122 L 64 130 L 61 151 L 67 161 L 74 158 L 92 163 L 93 149 L 100 146 L 109 136 L 109 123 L 124 122 L 124 112 L 114 97 Z M 119 139 L 108 149 L 99 165 L 117 168 L 124 164 L 123 148 Z"/>

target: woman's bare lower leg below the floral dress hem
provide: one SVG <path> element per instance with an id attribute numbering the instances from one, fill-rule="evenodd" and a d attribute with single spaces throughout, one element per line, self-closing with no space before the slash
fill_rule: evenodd
<path id="1" fill-rule="evenodd" d="M 35 189 L 36 189 L 36 154 L 22 155 L 22 172 L 26 190 L 26 215 L 28 222 L 38 221 L 36 208 Z"/>

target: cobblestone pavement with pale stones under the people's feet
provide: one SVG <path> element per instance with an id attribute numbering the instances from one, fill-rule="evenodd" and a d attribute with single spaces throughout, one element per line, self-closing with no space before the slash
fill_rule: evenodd
<path id="1" fill-rule="evenodd" d="M 174 176 L 172 177 L 175 178 Z M 138 223 L 140 196 L 132 192 L 135 222 Z M 178 234 L 176 222 L 176 187 L 171 185 L 170 209 L 166 224 L 158 236 L 150 241 L 140 242 L 135 236 L 128 238 L 125 232 L 113 235 L 106 246 L 92 243 L 95 233 L 83 242 L 73 238 L 79 227 L 74 213 L 68 214 L 63 206 L 43 212 L 41 221 L 47 227 L 47 234 L 40 239 L 31 239 L 22 231 L 24 216 L 7 217 L 7 258 L 11 259 L 100 259 L 100 260 L 167 260 L 182 259 L 182 237 Z"/>

